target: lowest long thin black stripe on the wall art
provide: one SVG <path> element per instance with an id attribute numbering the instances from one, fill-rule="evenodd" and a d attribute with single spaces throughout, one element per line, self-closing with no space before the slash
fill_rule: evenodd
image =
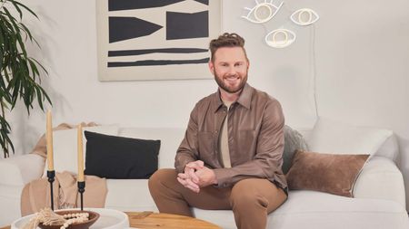
<path id="1" fill-rule="evenodd" d="M 137 62 L 108 62 L 108 68 L 114 67 L 135 67 L 135 66 L 157 66 L 157 65 L 172 65 L 172 64 L 198 64 L 209 62 L 210 58 L 198 60 L 145 60 Z"/>

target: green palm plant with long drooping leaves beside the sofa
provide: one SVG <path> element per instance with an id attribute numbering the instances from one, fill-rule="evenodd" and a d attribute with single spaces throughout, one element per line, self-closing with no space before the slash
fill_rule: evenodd
<path id="1" fill-rule="evenodd" d="M 16 0 L 0 0 L 0 145 L 4 157 L 15 151 L 9 136 L 11 127 L 5 117 L 6 111 L 13 110 L 19 102 L 24 102 L 28 114 L 35 101 L 41 110 L 44 110 L 45 101 L 51 104 L 40 85 L 40 74 L 47 72 L 25 50 L 26 42 L 40 46 L 22 23 L 23 14 L 33 14 L 38 19 L 26 5 Z"/>

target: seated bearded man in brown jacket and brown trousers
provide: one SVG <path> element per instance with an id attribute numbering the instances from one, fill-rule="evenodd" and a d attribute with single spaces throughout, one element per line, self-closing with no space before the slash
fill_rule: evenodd
<path id="1" fill-rule="evenodd" d="M 283 111 L 246 83 L 249 61 L 241 36 L 224 33 L 209 46 L 218 91 L 196 103 L 175 169 L 156 171 L 149 189 L 162 213 L 232 209 L 238 228 L 264 229 L 267 215 L 287 198 Z"/>

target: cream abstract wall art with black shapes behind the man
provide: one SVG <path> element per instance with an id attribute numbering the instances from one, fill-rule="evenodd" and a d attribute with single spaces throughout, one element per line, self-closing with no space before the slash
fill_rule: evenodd
<path id="1" fill-rule="evenodd" d="M 98 79 L 210 79 L 220 0 L 96 1 Z"/>

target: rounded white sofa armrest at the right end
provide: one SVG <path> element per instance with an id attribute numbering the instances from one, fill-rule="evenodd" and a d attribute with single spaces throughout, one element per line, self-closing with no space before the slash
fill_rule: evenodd
<path id="1" fill-rule="evenodd" d="M 406 207 L 404 177 L 391 159 L 372 157 L 355 182 L 354 197 L 393 200 Z"/>

